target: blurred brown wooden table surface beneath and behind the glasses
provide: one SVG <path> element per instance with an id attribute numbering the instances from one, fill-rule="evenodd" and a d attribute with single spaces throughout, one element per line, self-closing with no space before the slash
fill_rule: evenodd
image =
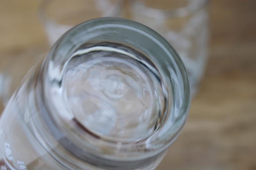
<path id="1" fill-rule="evenodd" d="M 38 5 L 0 2 L 0 71 L 21 55 L 47 51 Z M 212 0 L 209 12 L 206 73 L 185 128 L 157 170 L 256 170 L 256 1 Z"/>

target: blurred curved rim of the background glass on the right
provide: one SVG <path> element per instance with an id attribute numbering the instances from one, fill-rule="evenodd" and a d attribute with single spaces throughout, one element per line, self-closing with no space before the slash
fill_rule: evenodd
<path id="1" fill-rule="evenodd" d="M 163 18 L 181 18 L 192 15 L 208 4 L 210 0 L 199 0 L 196 4 L 188 4 L 187 6 L 178 7 L 176 9 L 156 9 L 147 7 L 140 0 L 135 0 L 132 3 L 132 9 L 144 16 L 156 19 Z"/>

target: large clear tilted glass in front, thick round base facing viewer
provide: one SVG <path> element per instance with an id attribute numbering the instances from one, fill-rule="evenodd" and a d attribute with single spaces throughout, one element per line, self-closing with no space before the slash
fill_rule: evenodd
<path id="1" fill-rule="evenodd" d="M 65 33 L 0 119 L 9 169 L 155 169 L 190 107 L 186 69 L 158 33 L 98 18 Z"/>

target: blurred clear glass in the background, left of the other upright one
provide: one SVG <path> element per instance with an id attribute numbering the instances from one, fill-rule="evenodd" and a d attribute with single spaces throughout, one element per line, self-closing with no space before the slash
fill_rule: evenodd
<path id="1" fill-rule="evenodd" d="M 100 17 L 120 17 L 123 0 L 44 0 L 39 16 L 50 46 L 62 34 L 84 21 Z"/>

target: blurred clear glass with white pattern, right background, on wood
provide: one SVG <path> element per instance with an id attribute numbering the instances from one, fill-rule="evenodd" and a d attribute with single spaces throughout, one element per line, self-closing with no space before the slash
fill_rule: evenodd
<path id="1" fill-rule="evenodd" d="M 160 33 L 177 50 L 196 94 L 208 57 L 208 0 L 135 0 L 131 19 Z"/>

